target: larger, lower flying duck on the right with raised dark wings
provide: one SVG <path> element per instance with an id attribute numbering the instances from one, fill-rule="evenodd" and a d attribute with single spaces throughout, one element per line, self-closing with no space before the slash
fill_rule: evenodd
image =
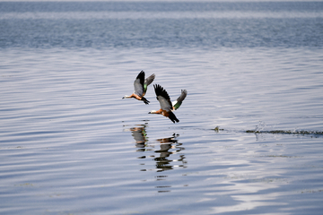
<path id="1" fill-rule="evenodd" d="M 156 99 L 160 102 L 161 109 L 159 110 L 152 110 L 148 114 L 161 114 L 162 116 L 169 117 L 171 122 L 179 123 L 179 119 L 174 115 L 173 110 L 176 110 L 180 107 L 182 104 L 183 100 L 187 97 L 188 91 L 187 90 L 181 90 L 181 94 L 179 98 L 172 102 L 170 101 L 170 96 L 167 93 L 166 90 L 162 88 L 161 85 L 159 84 L 154 84 L 153 88 L 156 93 Z"/>

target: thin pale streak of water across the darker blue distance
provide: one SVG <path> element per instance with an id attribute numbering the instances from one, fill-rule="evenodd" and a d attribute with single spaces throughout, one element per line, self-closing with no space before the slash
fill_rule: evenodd
<path id="1" fill-rule="evenodd" d="M 0 20 L 6 19 L 313 19 L 323 18 L 322 12 L 26 12 L 1 13 Z"/>

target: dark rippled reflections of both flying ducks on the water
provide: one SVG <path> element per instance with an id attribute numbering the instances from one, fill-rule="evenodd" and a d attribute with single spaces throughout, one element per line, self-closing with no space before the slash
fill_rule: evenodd
<path id="1" fill-rule="evenodd" d="M 154 168 L 141 168 L 140 171 L 162 173 L 175 168 L 187 168 L 187 160 L 183 153 L 185 148 L 182 147 L 183 144 L 177 139 L 179 134 L 173 133 L 170 137 L 149 140 L 145 130 L 147 126 L 148 124 L 145 123 L 144 125 L 135 125 L 124 130 L 131 132 L 134 137 L 136 151 L 141 153 L 141 156 L 137 157 L 137 159 L 144 160 L 141 165 L 152 167 L 153 161 Z M 156 181 L 165 181 L 168 176 L 163 174 L 155 177 Z M 158 193 L 166 193 L 170 192 L 170 187 L 170 185 L 158 185 L 155 188 L 158 189 Z"/>

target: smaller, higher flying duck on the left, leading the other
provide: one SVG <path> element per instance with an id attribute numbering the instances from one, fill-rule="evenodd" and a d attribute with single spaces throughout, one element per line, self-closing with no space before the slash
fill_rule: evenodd
<path id="1" fill-rule="evenodd" d="M 144 104 L 148 105 L 149 100 L 144 98 L 144 94 L 147 91 L 148 85 L 153 82 L 154 78 L 155 78 L 155 75 L 152 74 L 148 78 L 144 79 L 144 71 L 141 71 L 137 75 L 137 77 L 135 78 L 135 82 L 134 82 L 135 91 L 134 91 L 134 93 L 131 94 L 130 96 L 124 96 L 122 99 L 135 98 L 135 99 L 144 101 Z"/>

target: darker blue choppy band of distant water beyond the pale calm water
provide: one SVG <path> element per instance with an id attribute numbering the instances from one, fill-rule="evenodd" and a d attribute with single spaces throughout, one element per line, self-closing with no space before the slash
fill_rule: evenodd
<path id="1" fill-rule="evenodd" d="M 323 2 L 0 2 L 0 47 L 322 47 L 322 8 Z"/>

